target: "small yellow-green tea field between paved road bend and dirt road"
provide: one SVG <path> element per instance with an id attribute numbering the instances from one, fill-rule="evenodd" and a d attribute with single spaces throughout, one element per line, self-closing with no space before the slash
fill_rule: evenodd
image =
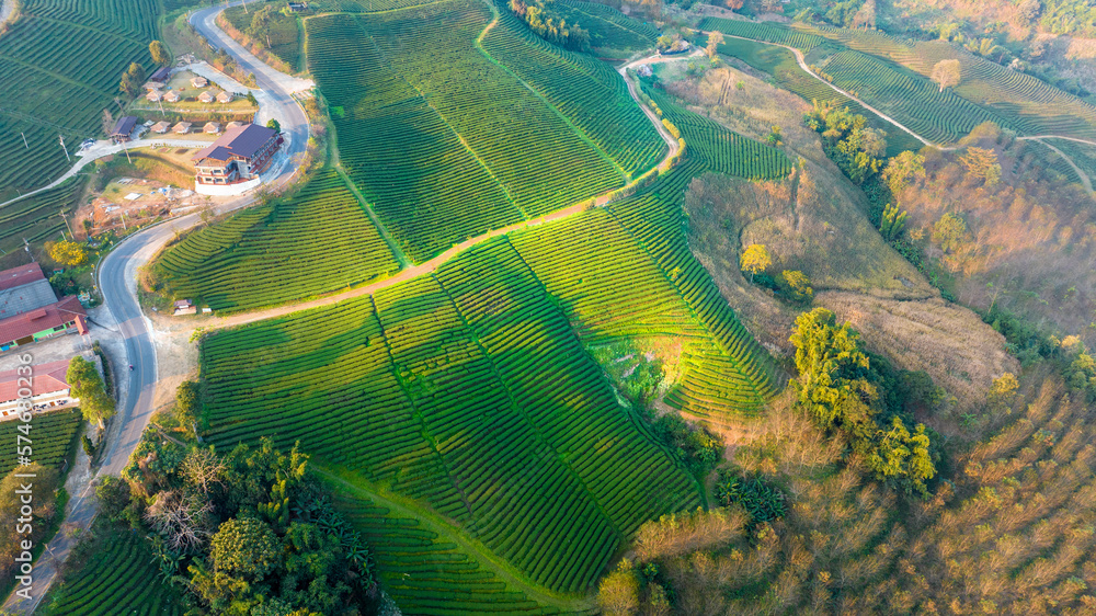
<path id="1" fill-rule="evenodd" d="M 175 297 L 243 310 L 346 288 L 398 264 L 342 178 L 316 173 L 289 198 L 194 231 L 153 269 Z"/>

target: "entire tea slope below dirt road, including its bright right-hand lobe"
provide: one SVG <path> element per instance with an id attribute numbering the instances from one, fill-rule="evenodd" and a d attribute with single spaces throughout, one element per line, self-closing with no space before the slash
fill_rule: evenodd
<path id="1" fill-rule="evenodd" d="M 299 440 L 459 524 L 533 582 L 589 590 L 642 521 L 699 497 L 584 345 L 680 341 L 666 402 L 716 420 L 758 412 L 776 387 L 682 233 L 681 195 L 705 170 L 688 162 L 372 298 L 209 335 L 205 438 Z"/>

